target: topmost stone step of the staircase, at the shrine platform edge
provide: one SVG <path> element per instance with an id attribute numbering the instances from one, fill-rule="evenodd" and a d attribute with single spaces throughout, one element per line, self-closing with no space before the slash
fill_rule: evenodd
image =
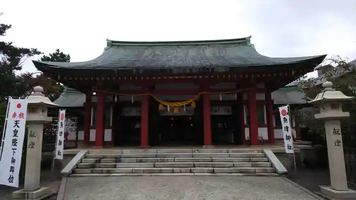
<path id="1" fill-rule="evenodd" d="M 90 150 L 89 154 L 136 154 L 136 153 L 261 153 L 260 149 L 103 149 Z"/>

